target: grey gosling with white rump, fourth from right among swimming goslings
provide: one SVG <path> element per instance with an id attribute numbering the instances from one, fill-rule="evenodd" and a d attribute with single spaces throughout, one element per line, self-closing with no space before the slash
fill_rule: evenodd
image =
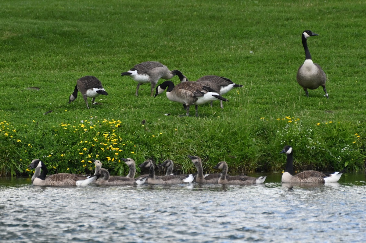
<path id="1" fill-rule="evenodd" d="M 183 184 L 191 183 L 193 181 L 193 175 L 188 178 L 180 178 L 176 175 L 165 175 L 160 178 L 155 177 L 155 168 L 152 160 L 145 160 L 144 163 L 140 164 L 141 168 L 149 168 L 149 177 L 147 178 L 147 184 Z"/>

